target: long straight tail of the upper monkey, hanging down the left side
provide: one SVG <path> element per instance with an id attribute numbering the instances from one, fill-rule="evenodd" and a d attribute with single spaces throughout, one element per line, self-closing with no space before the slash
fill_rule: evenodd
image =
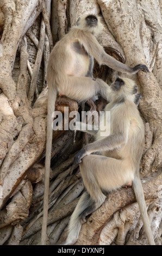
<path id="1" fill-rule="evenodd" d="M 48 83 L 49 86 L 49 83 Z M 57 98 L 57 89 L 52 86 L 48 87 L 48 114 L 47 114 L 47 132 L 46 132 L 46 160 L 45 160 L 45 188 L 43 196 L 43 221 L 41 231 L 41 245 L 46 245 L 47 240 L 47 218 L 48 218 L 48 195 L 49 195 L 49 174 L 51 166 L 51 149 L 52 149 L 52 113 L 55 110 L 55 101 Z"/>

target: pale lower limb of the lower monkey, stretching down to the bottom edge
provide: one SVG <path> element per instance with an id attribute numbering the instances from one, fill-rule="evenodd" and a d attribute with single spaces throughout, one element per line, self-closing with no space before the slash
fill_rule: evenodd
<path id="1" fill-rule="evenodd" d="M 71 216 L 65 245 L 73 245 L 77 241 L 80 229 L 82 227 L 82 222 L 80 221 L 79 216 L 86 208 L 90 206 L 90 204 L 94 204 L 94 201 L 92 202 L 88 192 L 84 192 Z"/>

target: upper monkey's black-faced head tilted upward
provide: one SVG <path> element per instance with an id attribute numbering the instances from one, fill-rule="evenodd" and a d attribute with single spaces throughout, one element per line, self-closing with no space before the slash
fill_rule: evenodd
<path id="1" fill-rule="evenodd" d="M 77 27 L 96 36 L 102 30 L 101 19 L 98 15 L 84 15 L 78 19 Z"/>

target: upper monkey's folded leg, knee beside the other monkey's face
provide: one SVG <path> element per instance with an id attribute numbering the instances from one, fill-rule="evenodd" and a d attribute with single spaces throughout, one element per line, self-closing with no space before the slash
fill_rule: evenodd
<path id="1" fill-rule="evenodd" d="M 65 83 L 60 81 L 59 91 L 73 100 L 86 101 L 97 94 L 107 100 L 110 89 L 107 83 L 98 78 L 94 81 L 91 77 L 67 76 Z"/>

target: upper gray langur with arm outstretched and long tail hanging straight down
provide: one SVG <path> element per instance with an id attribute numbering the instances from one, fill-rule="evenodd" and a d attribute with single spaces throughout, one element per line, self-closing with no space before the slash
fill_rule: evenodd
<path id="1" fill-rule="evenodd" d="M 107 65 L 120 72 L 129 74 L 136 74 L 139 70 L 148 72 L 146 65 L 139 64 L 134 68 L 130 68 L 109 56 L 95 38 L 101 32 L 101 28 L 99 16 L 84 15 L 77 22 L 77 26 L 72 27 L 70 32 L 55 44 L 49 56 L 47 67 L 48 114 L 42 245 L 46 244 L 49 170 L 52 148 L 52 113 L 55 110 L 57 94 L 66 95 L 79 102 L 91 99 L 97 94 L 107 100 L 109 95 L 108 84 L 99 78 L 95 80 L 92 77 L 94 58 L 99 65 Z"/>

